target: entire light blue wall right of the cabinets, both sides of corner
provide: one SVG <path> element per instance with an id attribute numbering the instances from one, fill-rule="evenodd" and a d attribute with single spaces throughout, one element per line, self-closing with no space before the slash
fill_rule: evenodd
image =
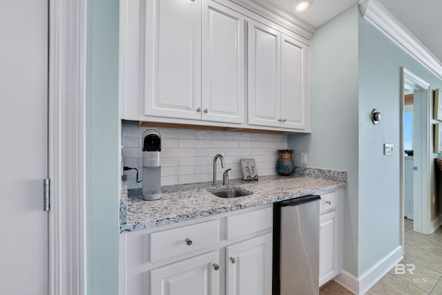
<path id="1" fill-rule="evenodd" d="M 361 276 L 400 245 L 400 68 L 432 89 L 442 81 L 362 19 L 357 5 L 316 30 L 311 59 L 311 134 L 289 135 L 288 147 L 298 165 L 299 153 L 307 152 L 307 166 L 347 171 L 343 268 Z M 376 126 L 373 108 L 383 115 Z M 384 143 L 396 153 L 383 155 Z M 441 203 L 432 204 L 432 219 L 442 213 Z"/>

